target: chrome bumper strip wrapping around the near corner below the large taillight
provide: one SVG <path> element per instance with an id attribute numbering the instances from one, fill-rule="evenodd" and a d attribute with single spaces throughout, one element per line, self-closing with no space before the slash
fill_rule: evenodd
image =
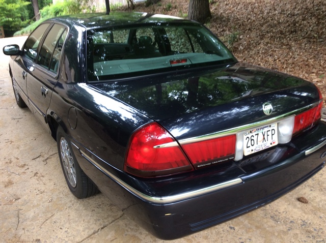
<path id="1" fill-rule="evenodd" d="M 210 186 L 207 188 L 190 191 L 190 192 L 185 192 L 185 193 L 181 193 L 181 194 L 177 194 L 177 195 L 173 195 L 173 196 L 152 197 L 152 196 L 148 196 L 148 195 L 141 193 L 141 192 L 135 190 L 134 188 L 130 187 L 128 184 L 124 183 L 124 181 L 119 179 L 117 176 L 115 176 L 111 172 L 107 171 L 105 168 L 103 168 L 101 165 L 99 165 L 96 161 L 94 161 L 92 158 L 90 158 L 86 153 L 84 153 L 82 150 L 80 150 L 79 147 L 77 145 L 75 145 L 73 142 L 71 142 L 71 144 L 73 144 L 79 150 L 79 153 L 85 159 L 87 159 L 92 164 L 94 164 L 97 168 L 99 168 L 106 175 L 110 176 L 113 180 L 116 181 L 116 183 L 120 184 L 120 186 L 122 186 L 127 191 L 134 194 L 135 196 L 138 196 L 141 199 L 152 202 L 152 203 L 157 203 L 157 204 L 174 203 L 174 202 L 186 200 L 186 199 L 193 198 L 193 197 L 198 197 L 198 196 L 201 196 L 201 195 L 204 195 L 207 193 L 215 192 L 218 190 L 222 190 L 222 189 L 243 183 L 241 178 L 236 178 L 236 179 L 228 180 L 228 181 L 225 181 L 224 183 L 216 184 L 216 185 L 213 185 L 213 186 Z"/>

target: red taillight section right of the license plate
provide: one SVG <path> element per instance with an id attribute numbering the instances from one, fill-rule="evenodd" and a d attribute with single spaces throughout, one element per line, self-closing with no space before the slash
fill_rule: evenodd
<path id="1" fill-rule="evenodd" d="M 322 102 L 314 108 L 307 110 L 295 116 L 293 134 L 311 127 L 317 120 L 321 118 Z"/>

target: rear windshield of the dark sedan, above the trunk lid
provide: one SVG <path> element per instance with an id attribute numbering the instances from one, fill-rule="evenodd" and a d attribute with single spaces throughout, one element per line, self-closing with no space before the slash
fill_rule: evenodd
<path id="1" fill-rule="evenodd" d="M 234 63 L 230 51 L 196 23 L 152 23 L 87 32 L 89 81 Z"/>

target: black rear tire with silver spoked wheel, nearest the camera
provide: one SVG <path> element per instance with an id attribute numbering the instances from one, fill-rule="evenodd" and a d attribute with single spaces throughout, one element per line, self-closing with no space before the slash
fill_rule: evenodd
<path id="1" fill-rule="evenodd" d="M 61 167 L 71 193 L 80 199 L 98 193 L 97 187 L 80 168 L 71 148 L 70 140 L 61 127 L 57 131 L 57 144 Z"/>

